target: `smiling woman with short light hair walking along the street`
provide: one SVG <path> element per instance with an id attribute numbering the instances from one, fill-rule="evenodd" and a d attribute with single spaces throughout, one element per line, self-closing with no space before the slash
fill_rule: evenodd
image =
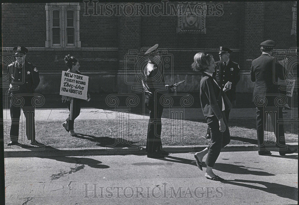
<path id="1" fill-rule="evenodd" d="M 216 64 L 213 56 L 208 53 L 196 53 L 191 67 L 194 71 L 202 73 L 200 102 L 211 132 L 211 144 L 203 151 L 195 153 L 194 157 L 197 166 L 202 170 L 202 159 L 207 154 L 205 160 L 207 165 L 205 177 L 210 180 L 222 181 L 224 180 L 223 178 L 214 174 L 213 166 L 220 154 L 221 148 L 230 142 L 230 134 L 224 111 L 232 108 L 231 102 L 225 95 L 225 91 L 231 89 L 231 82 L 227 82 L 223 90 L 219 87 L 216 79 L 212 76 Z"/>

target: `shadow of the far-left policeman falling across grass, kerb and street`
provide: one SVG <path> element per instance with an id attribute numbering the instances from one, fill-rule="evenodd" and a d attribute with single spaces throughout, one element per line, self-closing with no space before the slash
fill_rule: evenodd
<path id="1" fill-rule="evenodd" d="M 61 150 L 55 149 L 52 146 L 47 146 L 47 145 L 44 145 L 42 143 L 39 143 L 39 144 L 45 146 L 45 149 L 51 149 L 54 152 L 61 152 Z M 24 145 L 24 144 L 21 144 L 20 147 L 22 147 L 24 149 L 29 149 L 29 150 L 36 149 L 35 146 Z M 84 164 L 84 165 L 88 165 L 92 168 L 97 168 L 97 169 L 107 169 L 107 168 L 109 168 L 109 166 L 101 164 L 102 163 L 101 161 L 91 159 L 91 158 L 85 158 L 85 157 L 45 156 L 45 157 L 39 157 L 39 158 L 53 159 L 53 160 L 57 160 L 57 161 L 60 161 L 60 162 L 66 162 L 66 163 L 72 163 L 72 164 L 82 164 L 82 165 Z"/>

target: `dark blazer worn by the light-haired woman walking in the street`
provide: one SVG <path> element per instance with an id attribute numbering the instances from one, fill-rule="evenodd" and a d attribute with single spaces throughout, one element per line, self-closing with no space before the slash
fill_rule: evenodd
<path id="1" fill-rule="evenodd" d="M 216 115 L 218 120 L 223 118 L 221 96 L 224 101 L 225 110 L 230 110 L 232 105 L 225 92 L 216 85 L 213 77 L 202 73 L 200 81 L 200 103 L 204 116 Z"/>

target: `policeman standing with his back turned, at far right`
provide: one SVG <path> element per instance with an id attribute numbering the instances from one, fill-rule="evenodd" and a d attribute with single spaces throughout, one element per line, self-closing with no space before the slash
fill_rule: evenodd
<path id="1" fill-rule="evenodd" d="M 266 40 L 260 45 L 262 55 L 252 61 L 250 74 L 251 81 L 255 82 L 253 100 L 257 107 L 258 154 L 267 155 L 271 154 L 271 152 L 266 150 L 264 142 L 264 123 L 265 117 L 267 116 L 265 115 L 265 108 L 278 107 L 278 118 L 281 120 L 283 119 L 282 107 L 275 105 L 275 98 L 279 96 L 279 89 L 278 85 L 274 84 L 274 82 L 277 82 L 278 78 L 284 80 L 284 69 L 279 63 L 273 62 L 273 57 L 271 57 L 276 43 L 272 40 Z M 277 119 L 272 119 L 272 123 L 276 137 L 276 147 L 279 148 L 279 154 L 285 155 L 296 152 L 298 148 L 292 149 L 289 146 L 286 146 L 283 124 L 278 124 Z"/>

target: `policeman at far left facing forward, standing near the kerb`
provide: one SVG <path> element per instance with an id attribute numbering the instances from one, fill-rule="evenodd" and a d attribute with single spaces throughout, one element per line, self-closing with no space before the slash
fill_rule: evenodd
<path id="1" fill-rule="evenodd" d="M 13 48 L 16 61 L 8 65 L 7 73 L 10 74 L 10 142 L 7 146 L 19 145 L 19 122 L 21 108 L 26 118 L 26 135 L 31 144 L 37 145 L 35 140 L 34 105 L 32 104 L 33 92 L 39 85 L 39 72 L 35 65 L 25 60 L 28 49 L 24 46 Z M 22 98 L 23 105 L 16 103 L 16 97 Z M 22 107 L 21 107 L 22 106 Z"/>

